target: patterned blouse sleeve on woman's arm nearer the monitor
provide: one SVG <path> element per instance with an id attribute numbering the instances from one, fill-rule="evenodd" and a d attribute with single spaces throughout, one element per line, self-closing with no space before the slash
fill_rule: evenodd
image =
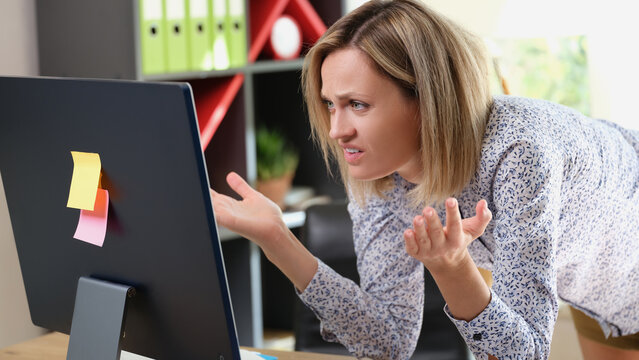
<path id="1" fill-rule="evenodd" d="M 403 224 L 392 204 L 352 199 L 360 285 L 319 261 L 317 273 L 299 294 L 321 322 L 322 336 L 340 342 L 358 358 L 409 359 L 421 330 L 423 266 L 405 251 Z"/>

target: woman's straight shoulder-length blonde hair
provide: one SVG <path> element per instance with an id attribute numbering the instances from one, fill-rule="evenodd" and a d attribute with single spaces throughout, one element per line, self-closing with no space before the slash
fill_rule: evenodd
<path id="1" fill-rule="evenodd" d="M 347 47 L 366 54 L 418 104 L 423 170 L 409 194 L 412 203 L 459 195 L 476 171 L 492 104 L 482 42 L 418 1 L 372 0 L 338 20 L 310 49 L 302 88 L 313 139 L 327 167 L 337 160 L 344 184 L 362 202 L 371 191 L 381 195 L 390 179 L 349 176 L 342 149 L 329 138 L 330 114 L 320 94 L 324 59 Z"/>

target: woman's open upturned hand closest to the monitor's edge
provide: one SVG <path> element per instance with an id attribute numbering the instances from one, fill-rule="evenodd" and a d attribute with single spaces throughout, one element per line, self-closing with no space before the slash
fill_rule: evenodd
<path id="1" fill-rule="evenodd" d="M 226 182 L 242 200 L 235 200 L 211 189 L 216 221 L 261 248 L 269 247 L 286 229 L 279 206 L 251 188 L 234 172 L 226 176 Z"/>

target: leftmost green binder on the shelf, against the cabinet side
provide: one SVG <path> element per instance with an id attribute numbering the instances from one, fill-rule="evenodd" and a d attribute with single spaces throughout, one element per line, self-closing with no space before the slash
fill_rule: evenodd
<path id="1" fill-rule="evenodd" d="M 143 74 L 165 73 L 166 45 L 162 0 L 140 0 L 140 55 Z"/>

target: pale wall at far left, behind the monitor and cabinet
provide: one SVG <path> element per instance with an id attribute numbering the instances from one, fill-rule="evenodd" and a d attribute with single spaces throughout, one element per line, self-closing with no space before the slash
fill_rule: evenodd
<path id="1" fill-rule="evenodd" d="M 0 0 L 0 34 L 0 75 L 37 75 L 34 0 Z M 0 179 L 0 348 L 43 332 L 29 316 Z"/>

